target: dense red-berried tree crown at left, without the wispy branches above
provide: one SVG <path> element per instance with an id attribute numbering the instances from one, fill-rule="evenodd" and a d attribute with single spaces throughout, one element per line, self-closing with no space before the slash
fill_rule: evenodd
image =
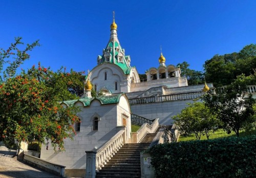
<path id="1" fill-rule="evenodd" d="M 58 78 L 59 75 L 63 77 Z M 75 115 L 78 108 L 59 105 L 63 98 L 77 97 L 69 92 L 66 96 L 58 94 L 58 90 L 62 94 L 65 92 L 61 90 L 68 90 L 68 84 L 63 83 L 69 81 L 65 80 L 67 75 L 44 67 L 32 67 L 28 73 L 23 71 L 0 86 L 0 134 L 7 145 L 33 138 L 46 144 L 47 138 L 54 148 L 64 149 L 63 139 L 72 139 L 75 134 L 73 124 L 79 121 Z M 52 85 L 56 80 L 61 82 Z"/>

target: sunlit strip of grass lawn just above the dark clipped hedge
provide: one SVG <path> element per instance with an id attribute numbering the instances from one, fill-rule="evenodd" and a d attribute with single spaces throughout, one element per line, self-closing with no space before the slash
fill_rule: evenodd
<path id="1" fill-rule="evenodd" d="M 250 132 L 246 132 L 246 131 L 241 131 L 239 132 L 240 137 L 244 137 L 244 136 L 248 136 L 248 135 L 256 135 L 256 130 L 250 131 Z M 236 137 L 236 133 L 234 133 L 233 131 L 231 132 L 231 134 L 227 134 L 226 131 L 220 129 L 218 131 L 216 131 L 214 134 L 211 134 L 209 139 L 216 139 L 216 138 L 225 138 L 225 137 Z M 180 136 L 179 138 L 179 142 L 180 141 L 191 141 L 191 140 L 196 140 L 196 136 L 195 134 L 190 134 L 188 136 Z M 205 135 L 201 136 L 200 140 L 207 140 Z"/>

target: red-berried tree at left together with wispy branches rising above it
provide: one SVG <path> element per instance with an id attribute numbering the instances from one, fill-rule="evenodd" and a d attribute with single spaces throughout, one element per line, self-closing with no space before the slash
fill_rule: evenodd
<path id="1" fill-rule="evenodd" d="M 63 108 L 59 103 L 82 93 L 82 72 L 53 72 L 39 63 L 38 67 L 15 74 L 18 65 L 29 59 L 27 51 L 38 45 L 36 41 L 20 51 L 20 40 L 17 38 L 7 50 L 0 50 L 0 141 L 11 147 L 36 138 L 45 144 L 49 140 L 54 148 L 62 150 L 63 140 L 72 139 L 75 134 L 73 124 L 79 121 L 79 108 Z M 7 62 L 11 56 L 13 62 Z"/>

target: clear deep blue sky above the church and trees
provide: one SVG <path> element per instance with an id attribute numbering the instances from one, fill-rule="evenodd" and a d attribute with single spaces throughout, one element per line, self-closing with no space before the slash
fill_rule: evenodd
<path id="1" fill-rule="evenodd" d="M 91 70 L 109 41 L 113 10 L 118 39 L 139 73 L 158 67 L 160 45 L 167 65 L 186 61 L 203 70 L 212 56 L 256 43 L 254 0 L 0 2 L 0 47 L 17 36 L 25 43 L 40 40 L 24 69 L 40 61 L 53 70 Z"/>

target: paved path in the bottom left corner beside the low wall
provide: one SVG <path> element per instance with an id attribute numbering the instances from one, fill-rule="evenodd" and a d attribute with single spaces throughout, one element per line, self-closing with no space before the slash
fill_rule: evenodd
<path id="1" fill-rule="evenodd" d="M 59 177 L 17 161 L 16 151 L 0 146 L 0 178 L 53 178 Z"/>

